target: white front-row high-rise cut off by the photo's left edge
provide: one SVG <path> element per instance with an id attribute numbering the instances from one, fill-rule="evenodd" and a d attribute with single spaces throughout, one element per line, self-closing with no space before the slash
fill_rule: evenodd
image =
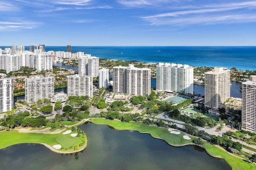
<path id="1" fill-rule="evenodd" d="M 0 112 L 13 109 L 12 78 L 0 78 Z"/>

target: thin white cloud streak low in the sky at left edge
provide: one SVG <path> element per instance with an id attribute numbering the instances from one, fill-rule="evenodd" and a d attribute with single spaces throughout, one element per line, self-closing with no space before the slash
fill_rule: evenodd
<path id="1" fill-rule="evenodd" d="M 8 21 L 0 21 L 0 32 L 19 31 L 21 29 L 33 29 L 41 25 L 22 18 L 8 18 Z"/>

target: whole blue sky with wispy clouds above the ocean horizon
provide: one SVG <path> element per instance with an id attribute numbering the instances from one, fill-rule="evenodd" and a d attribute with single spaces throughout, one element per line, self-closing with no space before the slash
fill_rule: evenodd
<path id="1" fill-rule="evenodd" d="M 12 44 L 256 45 L 256 1 L 1 0 Z"/>

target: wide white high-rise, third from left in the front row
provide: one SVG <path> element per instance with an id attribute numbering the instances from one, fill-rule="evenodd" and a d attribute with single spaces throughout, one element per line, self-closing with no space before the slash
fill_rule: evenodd
<path id="1" fill-rule="evenodd" d="M 67 80 L 68 96 L 89 96 L 92 98 L 92 76 L 76 74 L 67 76 Z"/>

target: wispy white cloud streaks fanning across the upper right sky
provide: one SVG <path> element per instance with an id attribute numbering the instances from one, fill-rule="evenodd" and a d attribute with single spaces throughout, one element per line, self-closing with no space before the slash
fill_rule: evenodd
<path id="1" fill-rule="evenodd" d="M 256 1 L 248 1 L 230 4 L 210 4 L 191 7 L 188 10 L 178 10 L 163 14 L 141 17 L 151 25 L 186 25 L 196 23 L 239 23 L 253 22 L 255 16 Z M 198 10 L 194 10 L 199 8 Z M 182 9 L 182 8 L 180 8 Z M 184 9 L 184 8 L 183 8 Z M 246 12 L 244 11 L 246 10 Z M 242 11 L 242 12 L 241 12 Z"/>

